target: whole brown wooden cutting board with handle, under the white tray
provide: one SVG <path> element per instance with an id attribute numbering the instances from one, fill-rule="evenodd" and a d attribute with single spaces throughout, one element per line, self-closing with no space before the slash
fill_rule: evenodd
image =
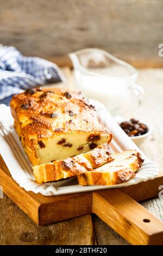
<path id="1" fill-rule="evenodd" d="M 163 245 L 163 223 L 137 203 L 158 196 L 162 172 L 154 180 L 129 187 L 46 197 L 21 188 L 0 156 L 0 184 L 37 224 L 94 213 L 133 245 Z"/>

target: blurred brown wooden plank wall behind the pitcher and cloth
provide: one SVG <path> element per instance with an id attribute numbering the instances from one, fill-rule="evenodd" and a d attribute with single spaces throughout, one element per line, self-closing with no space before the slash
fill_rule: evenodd
<path id="1" fill-rule="evenodd" d="M 0 0 L 0 43 L 28 56 L 56 60 L 99 47 L 135 66 L 162 67 L 162 31 L 162 0 Z"/>

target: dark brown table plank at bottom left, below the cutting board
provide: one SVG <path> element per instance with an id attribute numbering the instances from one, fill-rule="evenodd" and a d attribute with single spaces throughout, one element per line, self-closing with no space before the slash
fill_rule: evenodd
<path id="1" fill-rule="evenodd" d="M 92 245 L 90 215 L 39 226 L 4 194 L 0 199 L 0 245 Z M 81 235 L 82 234 L 82 235 Z"/>

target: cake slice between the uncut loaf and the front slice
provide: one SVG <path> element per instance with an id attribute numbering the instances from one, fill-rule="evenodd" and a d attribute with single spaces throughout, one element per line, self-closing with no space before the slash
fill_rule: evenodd
<path id="1" fill-rule="evenodd" d="M 91 171 L 93 168 L 97 168 L 111 160 L 109 145 L 104 143 L 85 154 L 68 157 L 66 160 L 33 166 L 34 176 L 36 182 L 40 184 L 58 181 Z"/>

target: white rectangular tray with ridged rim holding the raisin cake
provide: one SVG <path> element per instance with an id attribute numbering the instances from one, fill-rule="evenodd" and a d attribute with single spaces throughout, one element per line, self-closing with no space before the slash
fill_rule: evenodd
<path id="1" fill-rule="evenodd" d="M 137 148 L 134 142 L 123 132 L 120 126 L 112 119 L 112 117 L 108 114 L 105 107 L 102 103 L 90 100 L 96 107 L 96 111 L 98 112 L 99 119 L 103 125 L 105 125 L 108 130 L 112 132 L 113 139 L 110 143 L 111 150 L 113 152 L 121 152 L 123 150 L 128 149 L 136 149 L 140 152 L 145 162 L 142 164 L 142 167 L 139 169 L 139 172 L 136 173 L 135 178 L 131 179 L 125 183 L 114 185 L 114 186 L 80 186 L 78 185 L 77 178 L 72 178 L 65 181 L 52 182 L 49 184 L 37 184 L 34 180 L 34 175 L 32 172 L 32 166 L 29 163 L 26 154 L 23 151 L 22 145 L 18 139 L 18 136 L 13 128 L 13 118 L 11 117 L 10 108 L 5 105 L 0 105 L 0 122 L 2 124 L 8 123 L 10 127 L 10 131 L 14 136 L 17 147 L 20 147 L 22 154 L 26 158 L 26 163 L 29 168 L 23 169 L 21 167 L 20 160 L 17 160 L 13 150 L 10 148 L 6 139 L 0 131 L 0 153 L 7 164 L 7 167 L 11 173 L 12 178 L 26 191 L 33 191 L 34 193 L 41 193 L 45 196 L 53 196 L 60 194 L 69 194 L 76 192 L 85 192 L 85 191 L 93 191 L 93 190 L 104 190 L 108 188 L 115 187 L 125 187 L 137 184 L 142 181 L 146 181 L 149 179 L 154 179 L 155 176 L 159 174 L 159 169 L 156 164 L 149 160 L 142 151 Z"/>

